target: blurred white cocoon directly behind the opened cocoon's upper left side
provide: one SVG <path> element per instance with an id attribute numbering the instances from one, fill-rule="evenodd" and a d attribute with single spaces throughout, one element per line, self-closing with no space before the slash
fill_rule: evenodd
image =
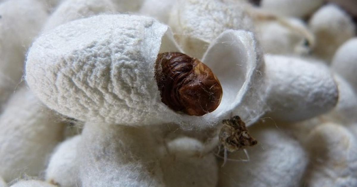
<path id="1" fill-rule="evenodd" d="M 111 0 L 65 0 L 51 14 L 43 30 L 53 29 L 75 19 L 114 12 L 115 9 Z"/>

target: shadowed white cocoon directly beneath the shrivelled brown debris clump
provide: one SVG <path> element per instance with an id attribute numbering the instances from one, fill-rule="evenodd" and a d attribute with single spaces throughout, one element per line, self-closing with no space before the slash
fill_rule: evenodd
<path id="1" fill-rule="evenodd" d="M 247 148 L 250 161 L 243 150 L 228 154 L 221 168 L 218 186 L 224 187 L 299 187 L 308 157 L 302 145 L 273 124 L 255 124 L 249 128 L 258 144 Z"/>

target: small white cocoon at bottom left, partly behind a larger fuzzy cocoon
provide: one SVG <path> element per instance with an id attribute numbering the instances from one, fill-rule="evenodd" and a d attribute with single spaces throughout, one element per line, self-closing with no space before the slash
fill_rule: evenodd
<path id="1" fill-rule="evenodd" d="M 67 139 L 56 147 L 46 169 L 46 181 L 61 187 L 79 186 L 77 149 L 81 136 Z"/>

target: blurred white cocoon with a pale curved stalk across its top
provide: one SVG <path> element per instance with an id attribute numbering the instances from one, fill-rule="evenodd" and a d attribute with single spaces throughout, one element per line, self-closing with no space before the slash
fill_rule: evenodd
<path id="1" fill-rule="evenodd" d="M 289 24 L 301 30 L 307 30 L 305 24 L 298 19 L 287 19 Z M 286 24 L 277 20 L 261 20 L 255 24 L 258 38 L 266 53 L 271 54 L 306 54 L 309 46 L 305 45 L 306 37 Z"/>

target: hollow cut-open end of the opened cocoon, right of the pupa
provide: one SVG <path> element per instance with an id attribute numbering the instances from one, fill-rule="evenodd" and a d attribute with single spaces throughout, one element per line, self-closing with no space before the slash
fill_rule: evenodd
<path id="1" fill-rule="evenodd" d="M 212 41 L 203 62 L 223 89 L 221 104 L 211 113 L 219 122 L 234 114 L 250 125 L 265 113 L 264 59 L 253 33 L 226 30 Z"/>

